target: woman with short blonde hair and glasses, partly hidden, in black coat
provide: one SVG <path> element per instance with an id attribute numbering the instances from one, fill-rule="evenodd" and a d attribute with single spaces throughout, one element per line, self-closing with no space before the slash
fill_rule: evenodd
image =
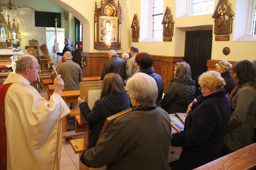
<path id="1" fill-rule="evenodd" d="M 226 94 L 230 94 L 237 85 L 236 80 L 230 74 L 231 67 L 232 64 L 227 60 L 222 60 L 216 64 L 216 71 L 219 72 L 222 78 L 225 80 L 226 85 L 224 89 Z"/>

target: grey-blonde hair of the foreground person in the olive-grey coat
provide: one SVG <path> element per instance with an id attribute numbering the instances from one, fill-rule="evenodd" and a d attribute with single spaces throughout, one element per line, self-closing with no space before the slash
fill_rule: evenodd
<path id="1" fill-rule="evenodd" d="M 138 72 L 126 81 L 130 97 L 134 97 L 140 104 L 152 105 L 157 98 L 157 84 L 153 77 Z"/>

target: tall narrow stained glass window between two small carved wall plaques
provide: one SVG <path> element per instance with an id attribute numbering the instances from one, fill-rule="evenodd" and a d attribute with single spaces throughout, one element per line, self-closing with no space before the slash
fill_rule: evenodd
<path id="1" fill-rule="evenodd" d="M 152 5 L 152 38 L 162 38 L 163 0 L 153 0 Z"/>

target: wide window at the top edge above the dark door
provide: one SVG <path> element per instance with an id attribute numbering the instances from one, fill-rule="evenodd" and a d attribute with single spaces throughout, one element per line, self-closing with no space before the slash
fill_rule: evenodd
<path id="1" fill-rule="evenodd" d="M 213 12 L 214 0 L 191 0 L 191 13 Z"/>

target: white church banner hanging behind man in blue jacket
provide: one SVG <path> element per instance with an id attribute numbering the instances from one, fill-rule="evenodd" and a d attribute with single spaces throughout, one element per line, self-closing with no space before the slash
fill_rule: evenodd
<path id="1" fill-rule="evenodd" d="M 53 58 L 53 62 L 61 61 L 62 56 L 58 56 L 55 52 L 55 29 L 56 28 L 46 28 L 46 45 L 48 51 Z M 65 29 L 64 28 L 57 28 L 57 44 L 59 52 L 62 52 L 64 48 L 64 39 L 65 39 Z"/>

